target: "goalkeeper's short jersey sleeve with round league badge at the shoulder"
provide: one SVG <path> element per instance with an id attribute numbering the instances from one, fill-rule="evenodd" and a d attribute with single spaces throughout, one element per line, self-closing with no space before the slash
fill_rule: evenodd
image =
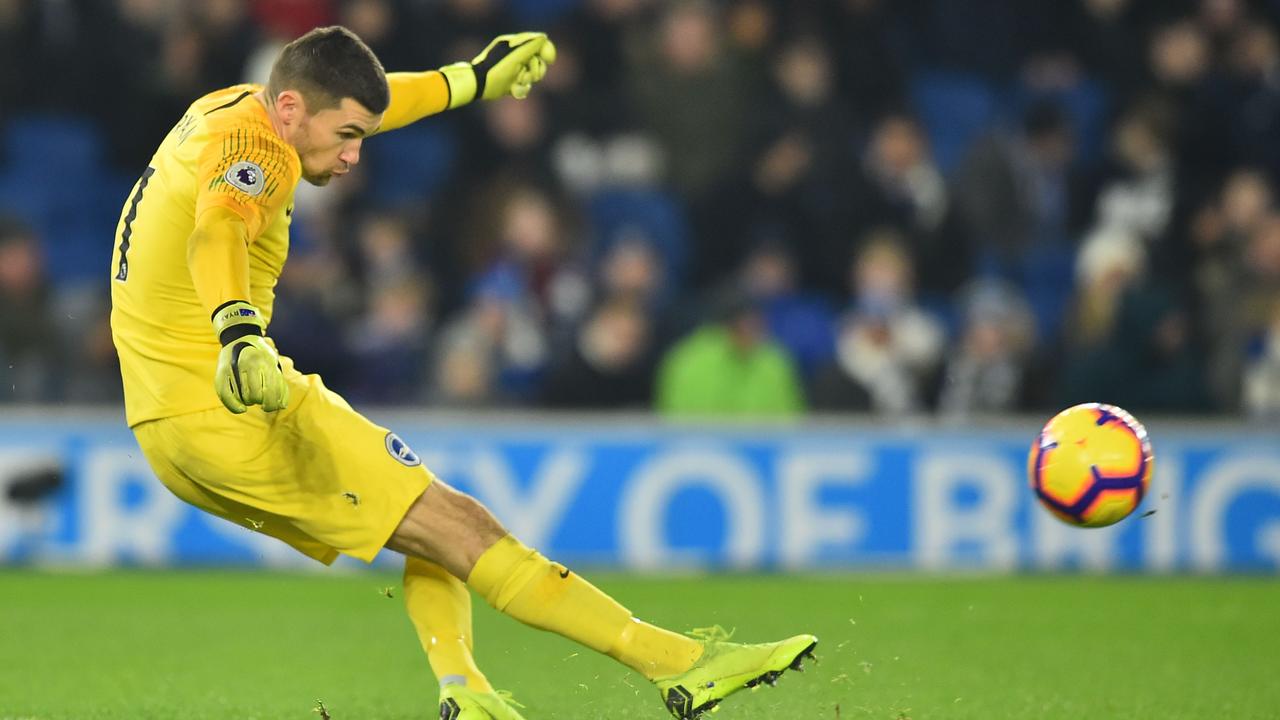
<path id="1" fill-rule="evenodd" d="M 280 213 L 301 174 L 297 155 L 269 128 L 230 128 L 210 138 L 196 168 L 196 220 L 221 206 L 244 220 L 250 242 Z"/>

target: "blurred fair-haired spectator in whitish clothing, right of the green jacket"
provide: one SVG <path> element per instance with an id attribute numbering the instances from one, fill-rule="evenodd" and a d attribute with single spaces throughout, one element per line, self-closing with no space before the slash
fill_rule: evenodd
<path id="1" fill-rule="evenodd" d="M 814 407 L 923 411 L 945 337 L 942 325 L 915 304 L 902 236 L 872 232 L 854 258 L 850 286 L 849 309 L 837 320 L 835 361 L 814 380 Z"/>

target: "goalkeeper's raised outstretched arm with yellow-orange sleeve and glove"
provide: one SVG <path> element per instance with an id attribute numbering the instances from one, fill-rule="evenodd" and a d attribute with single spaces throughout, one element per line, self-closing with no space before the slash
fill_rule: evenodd
<path id="1" fill-rule="evenodd" d="M 556 45 L 545 33 L 518 32 L 499 35 L 470 63 L 453 63 L 425 73 L 387 73 L 392 101 L 378 132 L 461 108 L 476 97 L 527 97 L 554 61 Z"/>

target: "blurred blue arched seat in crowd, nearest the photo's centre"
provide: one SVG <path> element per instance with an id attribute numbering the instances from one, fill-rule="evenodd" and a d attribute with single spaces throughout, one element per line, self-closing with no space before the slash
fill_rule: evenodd
<path id="1" fill-rule="evenodd" d="M 658 190 L 605 190 L 586 204 L 591 223 L 591 259 L 599 260 L 631 231 L 650 242 L 678 282 L 689 263 L 689 227 L 675 197 Z"/>

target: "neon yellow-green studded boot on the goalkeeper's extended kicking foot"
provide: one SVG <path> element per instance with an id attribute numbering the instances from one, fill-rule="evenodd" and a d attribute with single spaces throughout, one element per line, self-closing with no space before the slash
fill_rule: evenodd
<path id="1" fill-rule="evenodd" d="M 721 628 L 694 630 L 705 650 L 686 673 L 654 680 L 667 710 L 680 720 L 692 720 L 709 712 L 726 697 L 744 688 L 773 685 L 786 670 L 804 670 L 805 659 L 814 662 L 818 638 L 796 635 L 776 643 L 740 644 L 728 642 Z"/>

